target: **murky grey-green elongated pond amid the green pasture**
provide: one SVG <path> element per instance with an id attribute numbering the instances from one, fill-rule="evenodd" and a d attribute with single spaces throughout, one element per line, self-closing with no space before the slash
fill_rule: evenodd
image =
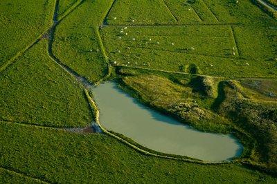
<path id="1" fill-rule="evenodd" d="M 105 129 L 151 150 L 211 162 L 228 161 L 242 153 L 242 145 L 233 136 L 197 131 L 139 103 L 114 82 L 100 84 L 93 94 Z"/>

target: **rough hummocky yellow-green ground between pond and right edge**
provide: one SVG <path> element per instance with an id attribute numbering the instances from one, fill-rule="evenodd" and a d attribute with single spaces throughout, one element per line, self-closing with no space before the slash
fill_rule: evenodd
<path id="1" fill-rule="evenodd" d="M 167 79 L 126 68 L 118 73 L 123 76 L 123 89 L 152 108 L 198 130 L 235 133 L 244 144 L 242 161 L 276 175 L 277 103 L 274 96 L 260 94 L 261 99 L 257 94 L 276 92 L 275 79 L 241 79 L 242 87 L 238 81 L 208 76 Z"/>

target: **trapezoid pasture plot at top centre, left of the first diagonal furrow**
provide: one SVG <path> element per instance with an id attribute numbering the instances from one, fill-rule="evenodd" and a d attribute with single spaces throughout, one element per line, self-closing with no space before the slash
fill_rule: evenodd
<path id="1" fill-rule="evenodd" d="M 153 25 L 176 22 L 163 0 L 116 0 L 106 21 L 110 25 Z"/>

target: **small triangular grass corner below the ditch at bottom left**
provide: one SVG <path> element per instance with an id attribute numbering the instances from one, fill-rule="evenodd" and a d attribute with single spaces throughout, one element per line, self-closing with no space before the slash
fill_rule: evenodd
<path id="1" fill-rule="evenodd" d="M 44 183 L 35 178 L 30 178 L 0 167 L 0 181 L 2 183 Z"/>

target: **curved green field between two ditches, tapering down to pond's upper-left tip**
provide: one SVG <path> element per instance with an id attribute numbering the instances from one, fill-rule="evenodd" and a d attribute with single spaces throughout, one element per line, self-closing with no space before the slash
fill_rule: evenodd
<path id="1" fill-rule="evenodd" d="M 83 1 L 83 3 L 57 25 L 53 54 L 69 68 L 92 83 L 108 72 L 105 52 L 98 39 L 98 26 L 102 23 L 112 1 Z M 90 13 L 88 13 L 90 12 Z"/>

